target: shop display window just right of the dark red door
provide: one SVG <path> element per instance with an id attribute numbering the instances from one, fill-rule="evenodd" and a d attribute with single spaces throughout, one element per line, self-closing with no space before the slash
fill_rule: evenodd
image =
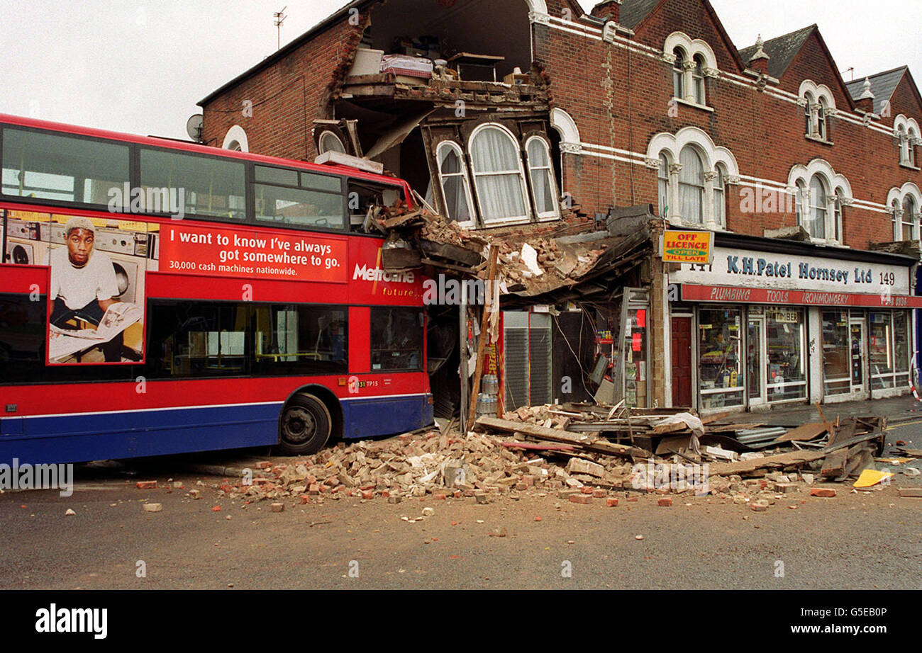
<path id="1" fill-rule="evenodd" d="M 741 323 L 741 309 L 700 309 L 698 312 L 698 366 L 704 410 L 744 405 Z"/>

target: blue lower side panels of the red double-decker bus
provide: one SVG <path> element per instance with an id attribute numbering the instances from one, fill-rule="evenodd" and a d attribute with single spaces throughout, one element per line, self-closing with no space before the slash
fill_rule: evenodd
<path id="1" fill-rule="evenodd" d="M 344 436 L 374 437 L 429 426 L 426 395 L 342 402 Z M 0 462 L 143 458 L 278 442 L 282 403 L 0 419 Z"/>

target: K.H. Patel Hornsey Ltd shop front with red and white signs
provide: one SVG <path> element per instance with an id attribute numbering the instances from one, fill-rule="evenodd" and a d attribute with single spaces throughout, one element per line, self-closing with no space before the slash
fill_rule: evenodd
<path id="1" fill-rule="evenodd" d="M 718 234 L 713 262 L 668 268 L 672 405 L 759 411 L 910 392 L 915 263 Z"/>

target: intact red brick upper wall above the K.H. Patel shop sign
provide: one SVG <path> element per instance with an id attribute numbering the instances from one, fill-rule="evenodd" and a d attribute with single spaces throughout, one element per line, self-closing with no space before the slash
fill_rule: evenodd
<path id="1" fill-rule="evenodd" d="M 562 9 L 569 6 L 556 0 L 548 5 L 553 16 L 560 16 Z M 684 31 L 692 39 L 707 41 L 722 72 L 743 75 L 730 50 L 732 46 L 722 37 L 701 0 L 669 0 L 636 30 L 633 41 L 658 51 L 662 51 L 670 33 Z M 706 80 L 707 104 L 715 111 L 679 105 L 678 116 L 670 116 L 670 64 L 561 29 L 537 25 L 535 32 L 536 56 L 550 76 L 554 106 L 573 116 L 584 143 L 644 154 L 655 134 L 675 134 L 692 125 L 707 133 L 716 146 L 733 152 L 741 175 L 786 184 L 793 166 L 807 165 L 822 157 L 836 173 L 845 175 L 856 200 L 886 204 L 887 193 L 894 186 L 905 181 L 922 185 L 919 172 L 899 165 L 899 153 L 889 134 L 832 118 L 833 145 L 811 141 L 804 135 L 803 109 L 797 104 L 763 93 L 755 84 L 740 85 L 739 80 L 723 76 Z M 812 79 L 830 87 L 839 111 L 860 118 L 852 111 L 847 91 L 833 66 L 814 32 L 778 88 L 796 95 L 801 81 Z M 915 116 L 916 120 L 922 114 L 905 79 L 892 99 L 892 117 L 899 113 Z M 892 117 L 882 120 L 881 126 L 891 127 Z M 658 205 L 656 169 L 585 152 L 564 155 L 564 159 L 565 190 L 572 192 L 590 214 L 604 211 L 611 204 Z M 743 188 L 727 189 L 728 228 L 761 236 L 765 228 L 796 224 L 793 213 L 742 213 L 739 192 Z M 888 214 L 859 206 L 845 208 L 846 245 L 866 248 L 869 242 L 892 239 L 891 234 Z"/>

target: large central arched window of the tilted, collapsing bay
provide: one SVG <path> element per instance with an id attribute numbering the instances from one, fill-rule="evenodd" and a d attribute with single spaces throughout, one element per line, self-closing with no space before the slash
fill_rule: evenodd
<path id="1" fill-rule="evenodd" d="M 470 155 L 484 224 L 528 219 L 525 171 L 513 134 L 482 125 L 471 134 Z"/>

